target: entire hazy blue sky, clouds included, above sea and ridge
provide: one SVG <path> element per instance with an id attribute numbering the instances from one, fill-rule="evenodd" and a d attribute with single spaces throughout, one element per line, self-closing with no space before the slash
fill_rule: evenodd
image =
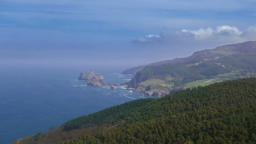
<path id="1" fill-rule="evenodd" d="M 0 0 L 0 64 L 120 69 L 256 40 L 256 0 Z"/>

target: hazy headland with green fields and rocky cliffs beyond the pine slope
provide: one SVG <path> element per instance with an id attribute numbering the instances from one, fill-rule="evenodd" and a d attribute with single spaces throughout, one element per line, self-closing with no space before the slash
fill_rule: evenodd
<path id="1" fill-rule="evenodd" d="M 136 73 L 128 88 L 148 96 L 164 96 L 193 86 L 255 77 L 255 73 L 256 41 L 250 41 L 148 64 Z"/>

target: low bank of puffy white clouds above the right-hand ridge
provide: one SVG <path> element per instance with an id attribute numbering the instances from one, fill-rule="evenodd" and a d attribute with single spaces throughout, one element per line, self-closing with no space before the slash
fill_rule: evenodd
<path id="1" fill-rule="evenodd" d="M 239 30 L 235 26 L 217 26 L 214 28 L 200 28 L 198 30 L 182 29 L 181 31 L 163 32 L 161 34 L 150 34 L 140 37 L 133 42 L 174 42 L 174 41 L 198 41 L 198 42 L 244 42 L 256 40 L 256 26 L 246 30 Z"/>

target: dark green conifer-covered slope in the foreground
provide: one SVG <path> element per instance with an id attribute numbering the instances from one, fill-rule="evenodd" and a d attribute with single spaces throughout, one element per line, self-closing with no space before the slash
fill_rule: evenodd
<path id="1" fill-rule="evenodd" d="M 194 87 L 158 99 L 134 100 L 64 125 L 13 143 L 255 144 L 256 78 Z"/>

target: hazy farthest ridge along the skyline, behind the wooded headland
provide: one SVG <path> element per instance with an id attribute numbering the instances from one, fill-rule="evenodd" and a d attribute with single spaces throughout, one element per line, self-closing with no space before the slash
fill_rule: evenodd
<path id="1" fill-rule="evenodd" d="M 210 52 L 210 53 L 208 53 Z M 140 70 L 143 70 L 146 66 L 162 66 L 164 64 L 177 64 L 178 62 L 187 62 L 190 60 L 196 60 L 198 58 L 207 58 L 207 54 L 213 55 L 215 52 L 215 56 L 225 56 L 230 54 L 256 54 L 256 41 L 249 41 L 249 42 L 243 42 L 238 44 L 229 44 L 224 46 L 218 46 L 216 49 L 209 49 L 209 50 L 201 50 L 198 52 L 194 52 L 189 57 L 186 58 L 174 58 L 172 60 L 163 60 L 160 62 L 153 62 L 150 64 L 142 65 L 142 66 L 136 66 L 133 68 L 129 68 L 127 70 L 124 70 L 122 74 L 133 74 L 135 75 Z"/>

